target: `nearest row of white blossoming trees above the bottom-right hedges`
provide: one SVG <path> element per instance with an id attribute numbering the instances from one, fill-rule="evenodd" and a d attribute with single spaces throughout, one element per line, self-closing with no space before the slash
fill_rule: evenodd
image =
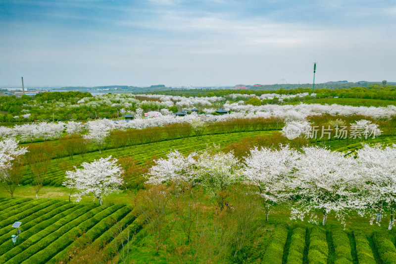
<path id="1" fill-rule="evenodd" d="M 322 213 L 322 224 L 329 213 L 345 224 L 351 211 L 368 215 L 371 223 L 378 224 L 389 215 L 389 229 L 395 221 L 395 144 L 365 145 L 356 158 L 319 147 L 305 147 L 302 152 L 289 146 L 254 148 L 243 162 L 214 147 L 187 157 L 173 151 L 155 163 L 148 183 L 199 183 L 221 208 L 226 206 L 224 191 L 235 182 L 246 182 L 256 186 L 267 219 L 271 206 L 284 203 L 292 206 L 291 219 L 307 217 L 315 223 L 319 222 L 317 211 Z"/>

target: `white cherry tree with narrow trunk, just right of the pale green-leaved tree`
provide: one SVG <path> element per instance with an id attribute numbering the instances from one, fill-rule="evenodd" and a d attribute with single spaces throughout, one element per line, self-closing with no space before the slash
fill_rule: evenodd
<path id="1" fill-rule="evenodd" d="M 290 174 L 298 157 L 289 146 L 281 146 L 279 150 L 256 147 L 245 159 L 244 175 L 257 186 L 267 221 L 270 207 L 289 196 L 286 191 L 292 187 Z"/>

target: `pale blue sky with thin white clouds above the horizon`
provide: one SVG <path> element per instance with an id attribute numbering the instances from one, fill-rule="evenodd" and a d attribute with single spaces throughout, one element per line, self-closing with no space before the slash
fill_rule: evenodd
<path id="1" fill-rule="evenodd" d="M 1 0 L 0 86 L 396 81 L 395 0 Z"/>

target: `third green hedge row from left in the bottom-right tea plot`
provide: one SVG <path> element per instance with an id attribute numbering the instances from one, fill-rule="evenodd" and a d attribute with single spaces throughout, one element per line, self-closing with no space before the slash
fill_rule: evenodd
<path id="1" fill-rule="evenodd" d="M 329 248 L 326 240 L 326 229 L 315 226 L 309 236 L 308 264 L 327 264 Z"/>

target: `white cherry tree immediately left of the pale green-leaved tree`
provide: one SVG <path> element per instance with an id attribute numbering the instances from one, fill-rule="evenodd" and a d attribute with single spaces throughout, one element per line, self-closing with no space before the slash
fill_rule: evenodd
<path id="1" fill-rule="evenodd" d="M 160 184 L 170 181 L 192 182 L 195 179 L 194 164 L 196 153 L 184 156 L 179 151 L 173 151 L 165 158 L 154 160 L 153 165 L 148 171 L 148 183 Z"/>

